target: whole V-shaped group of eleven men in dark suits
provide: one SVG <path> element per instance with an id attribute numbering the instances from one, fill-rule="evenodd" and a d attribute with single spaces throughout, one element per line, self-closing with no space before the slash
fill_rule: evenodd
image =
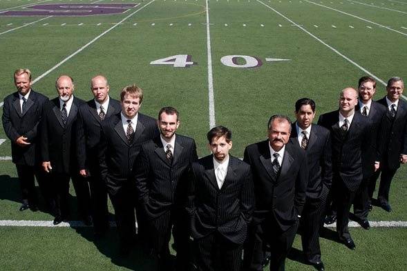
<path id="1" fill-rule="evenodd" d="M 211 154 L 198 159 L 195 141 L 177 133 L 176 108 L 162 108 L 156 120 L 139 112 L 138 86 L 123 88 L 117 101 L 108 95 L 107 79 L 97 75 L 94 99 L 85 102 L 73 95 L 73 79 L 62 75 L 55 83 L 58 97 L 48 100 L 31 89 L 29 70 L 16 70 L 14 79 L 17 92 L 4 100 L 3 127 L 21 184 L 19 210 L 38 210 L 36 177 L 53 223 L 66 221 L 72 179 L 79 214 L 93 223 L 95 237 L 109 228 L 110 197 L 120 253 L 129 254 L 138 241 L 158 270 L 260 271 L 267 250 L 269 270 L 285 270 L 297 231 L 305 260 L 325 270 L 323 221 L 337 221 L 339 239 L 354 249 L 351 205 L 362 227 L 370 228 L 380 172 L 378 205 L 390 212 L 392 177 L 407 163 L 407 104 L 399 77 L 388 81 L 378 102 L 372 101 L 375 79 L 362 77 L 358 90 L 342 90 L 339 109 L 322 114 L 318 124 L 314 101 L 299 99 L 296 121 L 270 117 L 268 138 L 248 145 L 243 161 L 229 154 L 231 131 L 224 126 L 209 130 Z"/>

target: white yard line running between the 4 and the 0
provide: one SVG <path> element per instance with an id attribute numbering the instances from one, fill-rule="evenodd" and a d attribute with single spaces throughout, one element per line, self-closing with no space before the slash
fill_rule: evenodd
<path id="1" fill-rule="evenodd" d="M 209 128 L 216 126 L 214 77 L 212 75 L 211 34 L 209 32 L 209 0 L 207 2 L 207 54 L 208 54 L 208 95 L 209 95 Z"/>

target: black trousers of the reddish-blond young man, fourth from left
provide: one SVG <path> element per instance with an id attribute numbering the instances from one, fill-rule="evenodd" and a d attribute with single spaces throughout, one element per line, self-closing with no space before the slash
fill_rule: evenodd
<path id="1" fill-rule="evenodd" d="M 120 247 L 130 248 L 135 239 L 135 208 L 132 197 L 133 190 L 124 186 L 115 194 L 109 193 L 113 208 L 115 209 L 115 220 L 117 232 L 120 238 Z"/>

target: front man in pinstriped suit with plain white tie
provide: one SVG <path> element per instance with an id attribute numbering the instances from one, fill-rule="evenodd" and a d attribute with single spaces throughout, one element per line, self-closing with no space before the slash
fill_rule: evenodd
<path id="1" fill-rule="evenodd" d="M 198 270 L 240 271 L 252 220 L 254 188 L 247 163 L 229 155 L 231 131 L 207 133 L 212 154 L 193 163 L 188 212 Z"/>

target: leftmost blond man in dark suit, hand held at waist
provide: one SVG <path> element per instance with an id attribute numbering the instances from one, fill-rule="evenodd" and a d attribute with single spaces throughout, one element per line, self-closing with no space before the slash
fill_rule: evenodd
<path id="1" fill-rule="evenodd" d="M 37 211 L 37 192 L 35 179 L 44 189 L 44 174 L 38 157 L 38 123 L 41 120 L 42 108 L 48 98 L 31 89 L 31 72 L 19 69 L 14 73 L 14 83 L 17 92 L 4 99 L 3 128 L 11 141 L 12 162 L 17 168 L 20 181 L 22 205 L 20 211 L 30 208 Z M 43 196 L 47 198 L 43 190 Z"/>

